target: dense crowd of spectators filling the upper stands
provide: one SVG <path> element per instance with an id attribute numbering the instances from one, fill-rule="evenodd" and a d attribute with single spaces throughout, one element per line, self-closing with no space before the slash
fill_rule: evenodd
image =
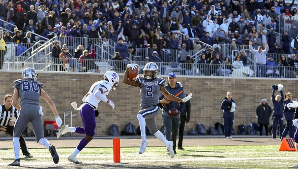
<path id="1" fill-rule="evenodd" d="M 217 46 L 231 44 L 238 49 L 237 46 L 248 46 L 252 42 L 254 49 L 261 46 L 265 50 L 267 41 L 268 53 L 297 54 L 298 10 L 293 7 L 294 2 L 0 0 L 0 19 L 4 21 L 0 22 L 0 26 L 5 26 L 5 22 L 17 26 L 13 30 L 10 24 L 6 25 L 13 33 L 3 34 L 5 42 L 32 43 L 38 38 L 34 34 L 43 37 L 57 35 L 111 39 L 116 42 L 115 51 L 124 60 L 128 52 L 134 54 L 136 49 L 143 48 L 150 49 L 148 56 L 143 56 L 144 61 L 180 63 L 193 63 L 189 57 L 206 48 L 201 61 L 197 63 L 222 64 L 223 61 L 229 61 L 232 64 L 235 57 L 226 59 Z M 281 38 L 277 39 L 275 33 L 282 34 Z M 279 40 L 281 43 L 277 43 Z M 177 56 L 163 55 L 168 50 L 179 50 L 179 59 Z M 245 67 L 247 56 L 242 54 L 240 52 L 240 61 Z M 80 56 L 74 58 L 79 59 Z M 233 66 L 230 65 L 230 68 L 232 70 Z M 217 75 L 228 75 L 231 73 L 229 70 L 216 71 Z"/>

